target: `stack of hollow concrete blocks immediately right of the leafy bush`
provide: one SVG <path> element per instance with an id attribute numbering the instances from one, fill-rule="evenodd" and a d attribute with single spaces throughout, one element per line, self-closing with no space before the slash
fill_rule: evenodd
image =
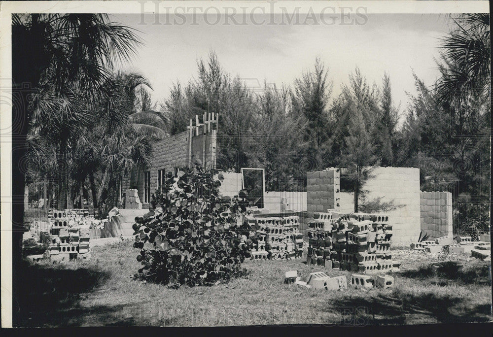
<path id="1" fill-rule="evenodd" d="M 251 251 L 252 260 L 295 259 L 303 254 L 303 234 L 298 216 L 248 217 L 257 228 L 258 243 Z"/>

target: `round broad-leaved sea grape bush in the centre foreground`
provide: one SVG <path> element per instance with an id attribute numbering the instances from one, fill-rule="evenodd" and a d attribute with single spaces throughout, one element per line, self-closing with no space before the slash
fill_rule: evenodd
<path id="1" fill-rule="evenodd" d="M 151 198 L 149 213 L 136 217 L 134 247 L 140 279 L 181 285 L 212 285 L 245 272 L 254 231 L 244 214 L 245 190 L 220 197 L 222 175 L 214 169 L 171 172 Z M 216 176 L 216 178 L 214 178 Z"/>

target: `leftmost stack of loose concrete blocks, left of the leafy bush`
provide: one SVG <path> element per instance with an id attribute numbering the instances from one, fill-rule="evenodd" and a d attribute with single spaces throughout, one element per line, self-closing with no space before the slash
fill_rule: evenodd
<path id="1" fill-rule="evenodd" d="M 52 210 L 48 218 L 51 225 L 48 258 L 58 262 L 89 258 L 90 228 L 84 224 L 80 212 Z"/>

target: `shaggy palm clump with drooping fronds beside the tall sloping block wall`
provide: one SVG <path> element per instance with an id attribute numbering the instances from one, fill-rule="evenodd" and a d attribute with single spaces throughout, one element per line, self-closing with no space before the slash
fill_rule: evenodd
<path id="1" fill-rule="evenodd" d="M 89 175 L 95 208 L 106 200 L 116 204 L 120 175 L 147 166 L 151 141 L 168 136 L 168 120 L 161 112 L 139 111 L 136 107 L 136 93 L 143 87 L 150 88 L 143 76 L 117 72 L 108 78 L 106 87 L 110 88 L 106 100 L 100 101 L 92 112 L 98 118 L 86 128 L 86 136 L 76 148 L 78 183 Z M 96 175 L 101 176 L 99 188 Z"/>

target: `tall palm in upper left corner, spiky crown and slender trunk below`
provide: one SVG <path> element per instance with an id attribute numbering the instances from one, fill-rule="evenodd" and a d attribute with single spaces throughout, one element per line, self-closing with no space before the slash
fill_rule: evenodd
<path id="1" fill-rule="evenodd" d="M 54 117 L 56 113 L 67 117 L 57 129 L 60 132 L 53 135 L 60 136 L 53 141 L 58 140 L 60 160 L 67 164 L 69 140 L 74 132 L 70 129 L 71 123 L 65 122 L 86 118 L 85 112 L 71 105 L 70 100 L 77 95 L 95 102 L 105 96 L 107 69 L 116 60 L 129 59 L 141 42 L 132 29 L 108 22 L 107 14 L 14 14 L 12 41 L 12 59 L 15 60 L 12 94 L 18 102 L 12 113 L 21 116 L 17 132 L 28 133 L 36 111 L 38 117 L 43 118 Z M 30 94 L 35 94 L 34 103 L 30 103 Z M 43 109 L 45 107 L 48 111 Z M 51 122 L 54 120 L 37 121 L 45 126 Z M 22 138 L 19 141 L 24 142 Z M 19 151 L 19 155 L 24 156 L 24 152 Z M 16 165 L 19 158 L 12 159 Z M 59 207 L 65 208 L 67 175 L 62 171 L 59 168 Z M 23 173 L 15 172 L 13 186 L 23 184 Z M 13 194 L 16 194 L 15 187 Z"/>

